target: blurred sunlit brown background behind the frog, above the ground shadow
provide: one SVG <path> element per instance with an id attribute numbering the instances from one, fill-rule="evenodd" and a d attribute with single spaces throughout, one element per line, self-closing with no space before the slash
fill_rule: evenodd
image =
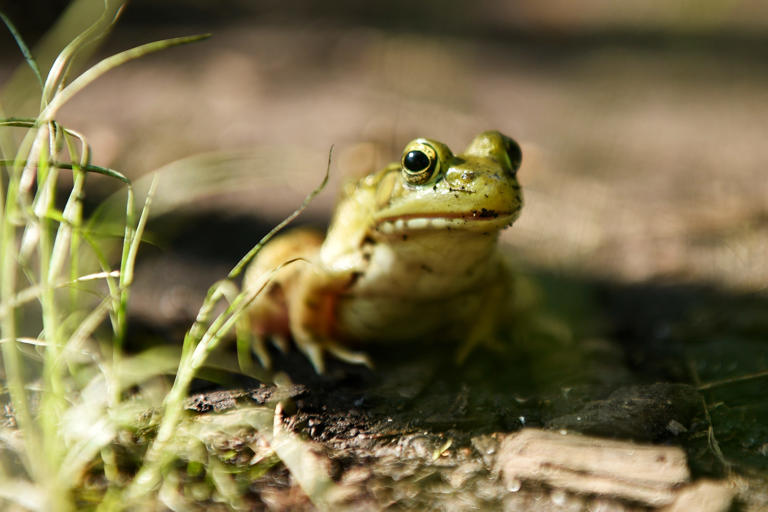
<path id="1" fill-rule="evenodd" d="M 77 4 L 82 23 L 102 5 Z M 40 45 L 67 5 L 0 2 Z M 460 151 L 499 129 L 524 152 L 526 206 L 503 235 L 522 260 L 765 289 L 764 2 L 135 0 L 97 55 L 201 32 L 213 37 L 108 73 L 60 120 L 132 178 L 203 154 L 173 166 L 159 201 L 232 219 L 223 239 L 191 243 L 229 254 L 222 269 L 258 237 L 240 220 L 291 212 L 332 145 L 333 181 L 306 217 L 320 225 L 340 179 L 408 140 Z M 0 44 L 12 83 L 23 61 L 9 35 Z"/>

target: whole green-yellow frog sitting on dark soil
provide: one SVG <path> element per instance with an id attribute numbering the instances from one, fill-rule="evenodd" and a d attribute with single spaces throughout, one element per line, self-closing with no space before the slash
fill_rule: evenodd
<path id="1" fill-rule="evenodd" d="M 459 155 L 416 139 L 400 163 L 344 187 L 325 238 L 299 229 L 268 243 L 245 277 L 263 288 L 249 312 L 262 363 L 267 338 L 292 338 L 318 373 L 325 351 L 370 365 L 351 348 L 365 343 L 454 340 L 459 359 L 493 344 L 510 294 L 497 239 L 522 208 L 521 158 L 497 131 Z"/>

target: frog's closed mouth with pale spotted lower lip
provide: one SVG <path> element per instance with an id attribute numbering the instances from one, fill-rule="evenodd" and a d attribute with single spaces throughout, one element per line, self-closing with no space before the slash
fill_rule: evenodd
<path id="1" fill-rule="evenodd" d="M 412 213 L 385 217 L 376 222 L 376 229 L 384 234 L 418 230 L 503 229 L 517 219 L 518 212 L 472 210 L 469 213 Z"/>

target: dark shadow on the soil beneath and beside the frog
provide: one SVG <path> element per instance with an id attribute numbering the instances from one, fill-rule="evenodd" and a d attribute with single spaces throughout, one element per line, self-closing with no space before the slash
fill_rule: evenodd
<path id="1" fill-rule="evenodd" d="M 207 286 L 269 225 L 194 214 L 159 219 L 152 230 L 173 249 L 145 251 L 133 341 L 180 343 Z M 477 350 L 462 365 L 453 347 L 435 340 L 371 346 L 375 370 L 329 361 L 327 374 L 318 376 L 297 351 L 273 348 L 274 370 L 293 383 L 286 424 L 329 451 L 337 479 L 365 468 L 370 478 L 388 482 L 378 487 L 387 493 L 405 478 L 405 466 L 407 478 L 417 482 L 429 471 L 444 473 L 446 461 L 434 455 L 446 443 L 456 450 L 450 460 L 464 453 L 463 462 L 448 464 L 457 472 L 491 450 L 483 443 L 497 433 L 524 426 L 681 445 L 696 476 L 735 471 L 762 481 L 759 475 L 768 470 L 765 376 L 738 379 L 768 368 L 768 298 L 706 284 L 625 284 L 519 268 L 540 300 L 510 328 L 506 349 Z M 170 308 L 163 319 L 157 303 L 171 300 L 164 294 L 179 295 L 168 292 L 179 283 L 186 287 L 183 307 Z M 200 381 L 190 409 L 261 403 L 271 389 L 237 376 L 225 385 Z M 488 478 L 487 470 L 478 471 L 472 473 L 477 482 Z M 764 485 L 755 485 L 749 495 L 764 495 Z M 383 499 L 383 491 L 371 492 L 375 503 Z M 434 503 L 434 493 L 419 496 L 403 503 Z M 479 505 L 501 499 L 491 496 Z"/>

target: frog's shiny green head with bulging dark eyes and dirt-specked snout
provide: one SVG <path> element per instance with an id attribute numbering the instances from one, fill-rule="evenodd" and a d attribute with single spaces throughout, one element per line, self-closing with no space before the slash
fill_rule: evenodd
<path id="1" fill-rule="evenodd" d="M 375 228 L 497 232 L 520 214 L 521 160 L 520 146 L 497 131 L 481 133 L 459 155 L 434 140 L 413 140 L 400 164 L 378 176 Z"/>

